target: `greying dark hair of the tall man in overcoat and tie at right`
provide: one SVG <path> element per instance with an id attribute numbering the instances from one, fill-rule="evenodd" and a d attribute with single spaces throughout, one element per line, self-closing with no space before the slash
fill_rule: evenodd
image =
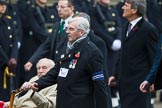
<path id="1" fill-rule="evenodd" d="M 130 3 L 132 9 L 137 9 L 139 16 L 146 14 L 146 0 L 125 0 L 125 2 Z"/>

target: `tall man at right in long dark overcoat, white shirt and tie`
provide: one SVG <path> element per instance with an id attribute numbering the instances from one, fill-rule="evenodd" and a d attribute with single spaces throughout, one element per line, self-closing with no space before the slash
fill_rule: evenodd
<path id="1" fill-rule="evenodd" d="M 148 75 L 157 49 L 159 35 L 156 28 L 143 17 L 145 0 L 125 0 L 122 48 L 118 70 L 109 78 L 109 84 L 118 75 L 121 108 L 150 108 L 150 93 L 142 93 L 139 85 Z"/>

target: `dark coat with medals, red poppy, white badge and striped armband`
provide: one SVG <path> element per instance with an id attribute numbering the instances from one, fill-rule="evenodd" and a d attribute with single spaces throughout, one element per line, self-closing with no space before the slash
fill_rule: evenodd
<path id="1" fill-rule="evenodd" d="M 67 72 L 67 75 L 62 72 Z M 108 108 L 107 84 L 103 74 L 103 56 L 85 38 L 36 82 L 39 88 L 57 82 L 57 108 Z"/>

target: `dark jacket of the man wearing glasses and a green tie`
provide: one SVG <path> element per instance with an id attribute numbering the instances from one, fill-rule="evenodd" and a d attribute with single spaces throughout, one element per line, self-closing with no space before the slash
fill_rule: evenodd
<path id="1" fill-rule="evenodd" d="M 59 24 L 59 22 L 55 23 L 52 35 L 40 45 L 30 58 L 30 62 L 35 64 L 42 57 L 48 57 L 55 62 L 61 58 L 62 51 L 64 51 L 66 47 L 67 36 L 65 31 L 62 34 L 59 34 Z"/>

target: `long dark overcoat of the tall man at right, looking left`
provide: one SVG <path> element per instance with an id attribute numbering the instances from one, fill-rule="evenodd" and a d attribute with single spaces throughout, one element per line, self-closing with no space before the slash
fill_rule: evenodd
<path id="1" fill-rule="evenodd" d="M 118 68 L 121 108 L 146 108 L 149 94 L 141 94 L 139 86 L 153 63 L 159 35 L 156 28 L 144 19 L 132 28 L 128 37 L 127 26 L 123 29 Z"/>

